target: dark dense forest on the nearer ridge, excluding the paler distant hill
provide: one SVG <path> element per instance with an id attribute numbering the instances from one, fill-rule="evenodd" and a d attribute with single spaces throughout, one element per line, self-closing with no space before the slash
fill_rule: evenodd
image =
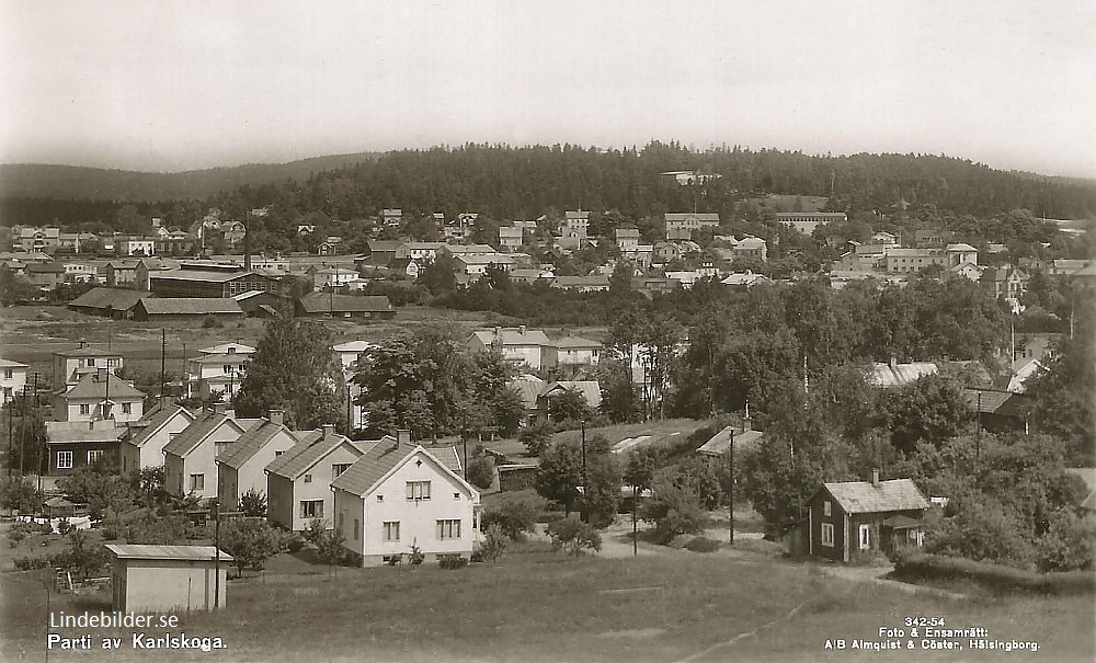
<path id="1" fill-rule="evenodd" d="M 682 186 L 660 174 L 675 170 L 721 176 Z M 891 213 L 897 205 L 909 205 L 928 217 L 956 215 L 954 224 L 960 229 L 963 215 L 987 218 L 1013 209 L 1048 218 L 1096 214 L 1096 187 L 944 156 L 808 156 L 738 146 L 695 150 L 654 141 L 623 150 L 466 145 L 393 151 L 307 179 L 244 184 L 201 201 L 4 197 L 0 218 L 11 219 L 9 224 L 57 222 L 85 229 L 121 225 L 116 229 L 136 231 L 133 213 L 144 222 L 160 216 L 169 225 L 185 227 L 210 207 L 242 218 L 248 209 L 271 206 L 264 225 L 289 241 L 296 228 L 288 232 L 285 224 L 347 222 L 375 216 L 384 207 L 402 208 L 409 220 L 435 212 L 448 218 L 477 212 L 487 222 L 543 214 L 558 217 L 564 209 L 578 208 L 617 210 L 641 227 L 643 219 L 694 208 L 720 213 L 724 219 L 757 220 L 762 210 L 747 201 L 763 193 L 829 196 L 830 208 L 849 213 Z"/>

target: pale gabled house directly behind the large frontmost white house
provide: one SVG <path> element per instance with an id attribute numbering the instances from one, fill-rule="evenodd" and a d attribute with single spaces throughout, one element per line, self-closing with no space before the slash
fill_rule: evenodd
<path id="1" fill-rule="evenodd" d="M 334 527 L 334 495 L 331 482 L 374 444 L 395 442 L 351 442 L 334 426 L 296 433 L 297 443 L 265 467 L 266 513 L 272 523 L 293 531 L 307 529 L 312 521 Z M 344 534 L 347 534 L 344 531 Z"/>

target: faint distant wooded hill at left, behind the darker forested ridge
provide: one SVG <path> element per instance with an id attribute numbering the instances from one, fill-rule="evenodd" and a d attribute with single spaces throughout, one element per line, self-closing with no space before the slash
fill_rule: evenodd
<path id="1" fill-rule="evenodd" d="M 240 186 L 287 179 L 305 181 L 312 173 L 370 161 L 374 152 L 315 157 L 288 163 L 248 163 L 178 173 L 147 173 L 45 163 L 0 164 L 0 194 L 8 198 L 64 198 L 155 202 L 204 199 Z"/>

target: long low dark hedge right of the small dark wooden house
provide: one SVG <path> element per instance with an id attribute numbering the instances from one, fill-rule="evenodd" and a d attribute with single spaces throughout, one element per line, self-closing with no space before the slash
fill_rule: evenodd
<path id="1" fill-rule="evenodd" d="M 895 556 L 893 575 L 906 581 L 967 580 L 1000 592 L 1055 595 L 1096 592 L 1096 573 L 1092 571 L 1037 573 L 992 562 L 916 552 Z"/>

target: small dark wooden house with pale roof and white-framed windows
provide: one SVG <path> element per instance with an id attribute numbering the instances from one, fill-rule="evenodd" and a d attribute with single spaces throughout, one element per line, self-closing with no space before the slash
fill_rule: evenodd
<path id="1" fill-rule="evenodd" d="M 861 552 L 922 545 L 929 506 L 910 479 L 823 483 L 808 507 L 807 553 L 847 562 Z"/>

